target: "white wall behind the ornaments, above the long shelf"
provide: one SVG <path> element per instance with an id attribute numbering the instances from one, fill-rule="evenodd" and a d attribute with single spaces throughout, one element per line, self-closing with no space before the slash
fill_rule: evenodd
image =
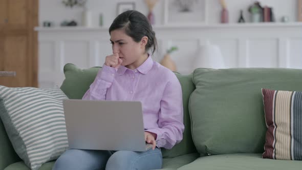
<path id="1" fill-rule="evenodd" d="M 154 8 L 156 24 L 163 24 L 163 12 L 164 12 L 164 1 L 160 0 Z M 117 3 L 119 2 L 135 2 L 136 10 L 147 15 L 147 6 L 144 0 L 88 0 L 87 8 L 93 12 L 94 26 L 98 25 L 98 15 L 103 13 L 104 26 L 109 27 L 116 17 Z M 219 23 L 220 22 L 220 11 L 221 7 L 218 0 L 207 0 L 207 16 L 208 23 Z M 236 23 L 239 18 L 239 12 L 241 9 L 245 11 L 244 16 L 246 20 L 249 20 L 249 14 L 247 8 L 253 0 L 226 0 L 229 10 L 230 23 Z M 297 0 L 260 0 L 261 4 L 273 7 L 277 21 L 283 15 L 287 15 L 291 22 L 297 20 Z M 81 24 L 81 12 L 83 11 L 80 7 L 65 7 L 62 4 L 62 0 L 40 0 L 39 1 L 39 23 L 41 24 L 44 20 L 50 20 L 59 26 L 64 19 L 75 19 Z"/>

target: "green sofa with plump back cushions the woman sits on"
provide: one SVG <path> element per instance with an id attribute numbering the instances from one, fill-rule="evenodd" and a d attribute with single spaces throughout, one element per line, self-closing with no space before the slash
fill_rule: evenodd
<path id="1" fill-rule="evenodd" d="M 61 90 L 80 99 L 99 67 L 64 67 Z M 266 125 L 261 88 L 302 91 L 298 69 L 196 69 L 175 73 L 183 90 L 185 132 L 163 152 L 163 169 L 301 169 L 302 161 L 263 159 Z M 51 169 L 54 162 L 42 165 Z M 29 169 L 13 150 L 0 121 L 0 170 Z"/>

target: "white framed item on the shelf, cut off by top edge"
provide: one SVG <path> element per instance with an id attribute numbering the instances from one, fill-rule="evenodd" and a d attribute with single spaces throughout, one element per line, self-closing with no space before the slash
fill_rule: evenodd
<path id="1" fill-rule="evenodd" d="M 164 24 L 206 24 L 207 1 L 208 0 L 165 0 Z"/>

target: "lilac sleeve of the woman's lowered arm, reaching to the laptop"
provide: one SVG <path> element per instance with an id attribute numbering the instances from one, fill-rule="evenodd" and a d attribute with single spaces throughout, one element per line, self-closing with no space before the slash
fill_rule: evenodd
<path id="1" fill-rule="evenodd" d="M 176 76 L 166 84 L 160 108 L 159 128 L 146 131 L 157 135 L 158 147 L 170 149 L 182 140 L 184 132 L 182 90 Z"/>

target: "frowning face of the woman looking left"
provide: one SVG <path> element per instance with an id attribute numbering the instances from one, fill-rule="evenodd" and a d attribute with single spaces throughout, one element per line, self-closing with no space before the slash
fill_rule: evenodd
<path id="1" fill-rule="evenodd" d="M 110 36 L 112 51 L 119 54 L 123 60 L 122 66 L 131 65 L 145 53 L 144 43 L 135 42 L 123 30 L 113 30 Z"/>

